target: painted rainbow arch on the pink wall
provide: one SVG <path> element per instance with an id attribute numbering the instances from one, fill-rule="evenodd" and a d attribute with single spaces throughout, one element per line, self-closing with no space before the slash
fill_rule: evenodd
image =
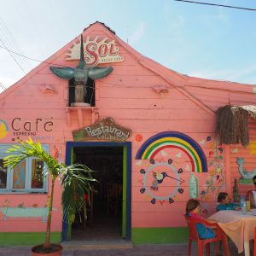
<path id="1" fill-rule="evenodd" d="M 165 148 L 178 148 L 183 151 L 191 161 L 192 172 L 208 172 L 207 158 L 200 145 L 178 131 L 163 131 L 149 137 L 137 151 L 136 159 L 154 159 Z"/>

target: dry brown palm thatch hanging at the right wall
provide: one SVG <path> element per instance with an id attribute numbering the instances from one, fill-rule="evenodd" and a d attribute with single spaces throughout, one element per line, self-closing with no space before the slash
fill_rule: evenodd
<path id="1" fill-rule="evenodd" d="M 256 106 L 224 106 L 218 108 L 216 134 L 224 144 L 249 144 L 248 116 L 256 118 Z"/>

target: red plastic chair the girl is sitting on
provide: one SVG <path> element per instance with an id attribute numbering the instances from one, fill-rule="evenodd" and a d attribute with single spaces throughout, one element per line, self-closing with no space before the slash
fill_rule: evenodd
<path id="1" fill-rule="evenodd" d="M 210 224 L 204 219 L 195 219 L 188 217 L 186 214 L 184 215 L 189 226 L 189 247 L 188 247 L 188 255 L 191 255 L 191 243 L 192 241 L 197 241 L 198 256 L 204 255 L 204 247 L 207 247 L 207 255 L 210 256 L 210 242 L 212 241 L 222 241 L 224 246 L 224 255 L 230 256 L 229 244 L 227 236 L 224 234 L 224 231 L 218 226 L 218 224 Z M 196 230 L 195 224 L 201 223 L 209 228 L 214 228 L 217 230 L 217 236 L 210 239 L 200 239 L 198 236 L 198 232 Z"/>

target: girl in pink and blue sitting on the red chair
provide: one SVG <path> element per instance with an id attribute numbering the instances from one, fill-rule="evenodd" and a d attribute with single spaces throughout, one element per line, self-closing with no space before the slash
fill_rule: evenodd
<path id="1" fill-rule="evenodd" d="M 186 204 L 186 215 L 195 218 L 195 219 L 204 219 L 208 223 L 216 223 L 216 221 L 202 218 L 200 215 L 200 203 L 195 199 L 189 199 Z M 198 232 L 198 236 L 201 239 L 210 239 L 216 236 L 216 230 L 212 228 L 206 227 L 204 224 L 198 223 L 196 224 L 196 230 Z M 215 252 L 220 253 L 218 242 L 214 243 Z"/>

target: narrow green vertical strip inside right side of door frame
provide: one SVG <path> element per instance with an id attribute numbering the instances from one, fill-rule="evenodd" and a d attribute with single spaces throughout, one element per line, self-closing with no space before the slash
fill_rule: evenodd
<path id="1" fill-rule="evenodd" d="M 127 190 L 127 147 L 123 147 L 123 216 L 122 216 L 122 237 L 126 236 L 126 190 Z"/>

